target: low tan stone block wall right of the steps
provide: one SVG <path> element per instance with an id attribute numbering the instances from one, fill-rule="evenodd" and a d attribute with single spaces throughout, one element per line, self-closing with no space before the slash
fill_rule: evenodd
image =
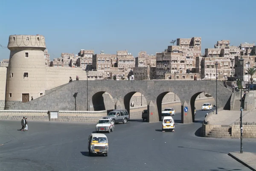
<path id="1" fill-rule="evenodd" d="M 246 125 L 247 124 L 247 125 Z M 232 138 L 240 138 L 240 122 L 232 125 L 231 136 Z M 256 123 L 243 123 L 243 138 L 256 138 Z"/>

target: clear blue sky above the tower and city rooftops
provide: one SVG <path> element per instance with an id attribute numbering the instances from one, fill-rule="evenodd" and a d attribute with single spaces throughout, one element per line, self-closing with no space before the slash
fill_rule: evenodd
<path id="1" fill-rule="evenodd" d="M 0 44 L 9 35 L 44 35 L 50 58 L 80 49 L 162 52 L 176 38 L 256 41 L 256 0 L 1 0 Z M 9 49 L 0 47 L 0 60 Z"/>

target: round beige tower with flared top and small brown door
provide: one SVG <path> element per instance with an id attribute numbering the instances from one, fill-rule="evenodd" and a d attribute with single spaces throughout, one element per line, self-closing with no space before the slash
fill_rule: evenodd
<path id="1" fill-rule="evenodd" d="M 47 87 L 42 35 L 10 35 L 6 80 L 6 109 L 15 102 L 28 102 L 44 95 Z"/>

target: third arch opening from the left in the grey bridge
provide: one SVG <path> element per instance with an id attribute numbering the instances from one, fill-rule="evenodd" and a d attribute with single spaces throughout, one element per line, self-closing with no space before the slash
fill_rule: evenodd
<path id="1" fill-rule="evenodd" d="M 178 116 L 181 117 L 180 98 L 175 93 L 163 92 L 157 96 L 157 111 L 158 111 L 159 121 L 162 121 L 162 111 L 165 108 L 173 108 L 175 110 L 175 112 L 172 111 L 172 114 L 170 114 L 170 116 L 175 115 L 174 119 L 176 119 Z"/>

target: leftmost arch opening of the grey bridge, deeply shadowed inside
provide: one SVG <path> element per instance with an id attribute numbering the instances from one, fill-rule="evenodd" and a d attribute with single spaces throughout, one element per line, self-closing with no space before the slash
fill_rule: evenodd
<path id="1" fill-rule="evenodd" d="M 111 94 L 100 91 L 93 95 L 92 97 L 93 101 L 93 109 L 94 111 L 100 111 L 100 110 L 114 110 L 115 109 L 115 102 Z"/>

